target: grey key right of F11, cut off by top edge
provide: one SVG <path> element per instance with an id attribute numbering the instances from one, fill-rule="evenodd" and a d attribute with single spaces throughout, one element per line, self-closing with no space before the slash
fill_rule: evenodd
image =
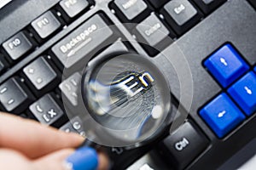
<path id="1" fill-rule="evenodd" d="M 62 0 L 60 5 L 68 17 L 73 18 L 87 8 L 89 3 L 86 0 Z"/>

